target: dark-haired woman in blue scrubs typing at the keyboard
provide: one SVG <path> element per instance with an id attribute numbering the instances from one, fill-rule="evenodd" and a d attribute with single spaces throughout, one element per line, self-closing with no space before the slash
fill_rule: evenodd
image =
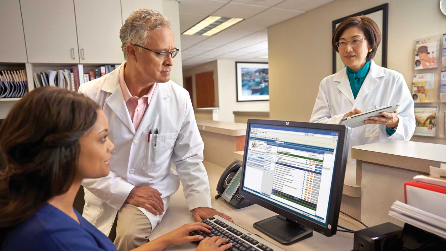
<path id="1" fill-rule="evenodd" d="M 73 208 L 84 178 L 107 176 L 113 143 L 107 119 L 83 95 L 57 87 L 31 91 L 0 126 L 0 251 L 116 251 L 110 239 Z M 135 251 L 164 250 L 202 240 L 186 224 Z M 198 251 L 231 248 L 218 236 L 203 239 Z"/>

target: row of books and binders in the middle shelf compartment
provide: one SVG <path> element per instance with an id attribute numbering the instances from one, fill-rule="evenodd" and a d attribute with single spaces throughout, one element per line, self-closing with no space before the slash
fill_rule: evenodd
<path id="1" fill-rule="evenodd" d="M 34 72 L 34 87 L 58 86 L 70 91 L 79 89 L 79 68 L 73 66 L 71 70 L 47 70 L 43 72 Z"/>

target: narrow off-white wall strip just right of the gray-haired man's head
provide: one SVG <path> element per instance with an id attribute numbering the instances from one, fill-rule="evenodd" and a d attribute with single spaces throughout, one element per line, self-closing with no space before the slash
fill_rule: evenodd
<path id="1" fill-rule="evenodd" d="M 180 40 L 180 11 L 178 1 L 163 0 L 163 14 L 172 21 L 173 37 L 175 46 L 180 49 L 177 56 L 173 58 L 173 67 L 170 70 L 170 79 L 178 85 L 183 86 L 183 66 L 181 60 L 181 40 Z"/>

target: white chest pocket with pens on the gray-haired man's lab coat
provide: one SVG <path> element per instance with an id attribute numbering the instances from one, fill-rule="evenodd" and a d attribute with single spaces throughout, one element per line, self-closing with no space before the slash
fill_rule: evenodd
<path id="1" fill-rule="evenodd" d="M 143 169 L 154 169 L 169 161 L 177 136 L 178 133 L 158 134 L 158 136 L 155 136 L 152 132 L 150 141 L 146 143 L 145 147 Z"/>

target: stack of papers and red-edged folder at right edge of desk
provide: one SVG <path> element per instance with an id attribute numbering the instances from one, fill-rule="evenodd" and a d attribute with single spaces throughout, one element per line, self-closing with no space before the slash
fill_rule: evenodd
<path id="1" fill-rule="evenodd" d="M 430 167 L 404 184 L 405 203 L 396 201 L 389 215 L 446 239 L 446 165 Z"/>

